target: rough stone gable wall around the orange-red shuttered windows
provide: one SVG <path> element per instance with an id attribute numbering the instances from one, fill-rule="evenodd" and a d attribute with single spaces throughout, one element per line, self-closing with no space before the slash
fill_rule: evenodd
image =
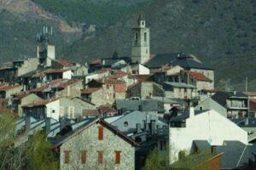
<path id="1" fill-rule="evenodd" d="M 135 148 L 118 135 L 103 127 L 103 139 L 98 139 L 98 126 L 93 124 L 82 133 L 61 145 L 61 169 L 135 169 Z M 64 163 L 64 150 L 70 150 L 69 163 Z M 81 150 L 86 150 L 86 162 L 81 164 Z M 97 151 L 103 151 L 103 162 L 98 163 Z M 115 150 L 120 150 L 120 164 L 115 164 Z"/>

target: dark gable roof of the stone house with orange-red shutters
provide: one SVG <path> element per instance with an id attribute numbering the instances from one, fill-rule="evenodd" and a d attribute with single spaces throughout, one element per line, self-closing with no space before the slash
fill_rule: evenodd
<path id="1" fill-rule="evenodd" d="M 57 147 L 57 146 L 60 146 L 61 144 L 65 143 L 65 142 L 67 142 L 68 139 L 72 139 L 73 137 L 75 137 L 79 133 L 83 132 L 84 130 L 86 130 L 87 128 L 89 128 L 91 125 L 93 125 L 95 123 L 99 123 L 103 127 L 107 127 L 108 130 L 112 131 L 113 133 L 118 135 L 119 138 L 124 139 L 127 143 L 131 144 L 132 146 L 138 146 L 139 145 L 139 144 L 137 144 L 137 142 L 135 140 L 126 136 L 125 133 L 120 132 L 117 128 L 113 127 L 108 122 L 104 121 L 103 119 L 96 118 L 93 121 L 84 125 L 84 127 L 81 127 L 81 128 L 79 128 L 79 130 L 77 130 L 77 131 L 73 132 L 72 134 L 68 135 L 65 139 L 62 139 L 58 144 L 54 145 L 54 148 Z"/>

